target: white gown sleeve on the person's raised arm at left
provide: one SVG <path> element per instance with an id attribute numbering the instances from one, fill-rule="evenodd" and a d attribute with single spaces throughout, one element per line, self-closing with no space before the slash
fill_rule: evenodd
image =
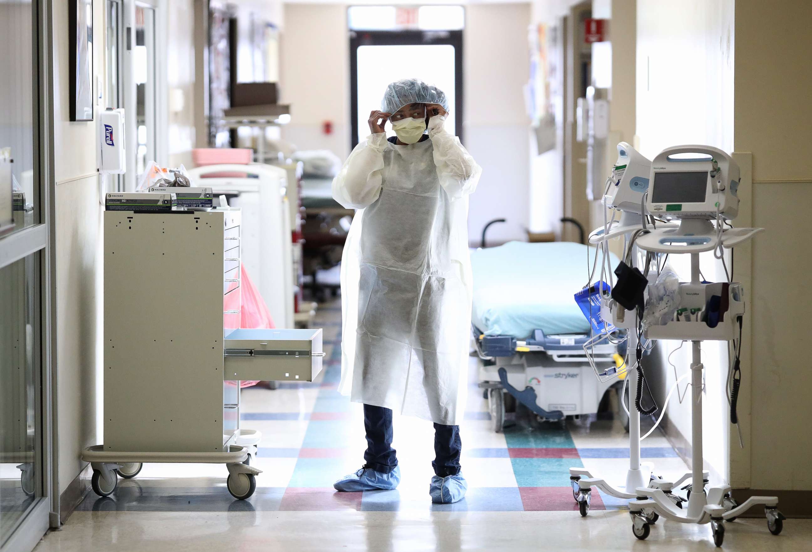
<path id="1" fill-rule="evenodd" d="M 384 132 L 370 135 L 352 150 L 333 179 L 333 198 L 348 209 L 369 207 L 381 193 L 383 151 L 387 148 Z"/>

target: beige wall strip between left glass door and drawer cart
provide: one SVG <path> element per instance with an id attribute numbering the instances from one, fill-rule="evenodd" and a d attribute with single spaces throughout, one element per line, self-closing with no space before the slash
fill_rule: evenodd
<path id="1" fill-rule="evenodd" d="M 102 0 L 93 26 L 104 28 Z M 70 122 L 67 2 L 54 2 L 54 171 L 56 175 L 57 400 L 59 490 L 80 473 L 82 447 L 97 444 L 102 302 L 97 122 Z M 95 75 L 105 82 L 104 33 L 94 33 Z"/>

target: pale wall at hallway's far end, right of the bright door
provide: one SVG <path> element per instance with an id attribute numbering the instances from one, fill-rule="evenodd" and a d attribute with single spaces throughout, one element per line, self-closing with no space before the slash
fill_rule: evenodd
<path id="1" fill-rule="evenodd" d="M 478 244 L 526 240 L 530 135 L 523 88 L 529 80 L 529 4 L 473 4 L 463 33 L 464 145 L 482 166 L 469 207 L 469 239 Z"/>

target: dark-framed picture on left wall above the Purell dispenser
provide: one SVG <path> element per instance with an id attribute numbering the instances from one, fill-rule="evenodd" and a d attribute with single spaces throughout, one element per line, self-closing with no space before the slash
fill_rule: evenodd
<path id="1" fill-rule="evenodd" d="M 71 121 L 93 121 L 93 0 L 68 0 Z"/>

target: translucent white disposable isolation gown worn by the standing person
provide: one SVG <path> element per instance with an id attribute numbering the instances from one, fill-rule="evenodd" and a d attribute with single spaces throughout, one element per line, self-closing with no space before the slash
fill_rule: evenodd
<path id="1" fill-rule="evenodd" d="M 370 135 L 333 181 L 335 199 L 359 209 L 341 263 L 339 391 L 457 425 L 471 332 L 468 195 L 482 169 L 444 120 L 410 145 Z"/>

